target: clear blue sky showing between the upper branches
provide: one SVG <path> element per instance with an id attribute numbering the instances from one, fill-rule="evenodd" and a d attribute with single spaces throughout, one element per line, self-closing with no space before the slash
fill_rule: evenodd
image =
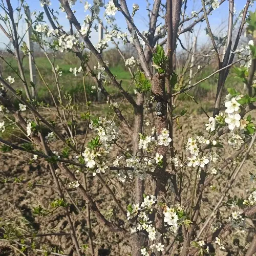
<path id="1" fill-rule="evenodd" d="M 163 0 L 165 2 L 165 0 Z M 220 0 L 219 0 L 220 1 Z M 39 5 L 39 0 L 27 0 L 26 1 L 27 4 L 30 6 L 30 11 L 44 11 L 43 8 Z M 54 10 L 58 10 L 59 9 L 59 1 L 58 0 L 51 0 L 52 5 L 50 6 L 51 8 L 53 8 Z M 93 0 L 89 0 L 88 1 L 90 4 L 92 4 Z M 108 2 L 108 1 L 105 1 Z M 154 3 L 154 0 L 149 0 L 149 2 L 151 3 L 151 7 Z M 13 5 L 13 7 L 17 7 L 17 0 L 11 0 L 11 3 Z M 135 18 L 134 18 L 134 22 L 137 25 L 138 29 L 140 31 L 144 31 L 147 30 L 147 21 L 148 21 L 148 13 L 146 11 L 146 1 L 144 0 L 126 0 L 127 6 L 130 8 L 130 10 L 132 10 L 132 5 L 133 3 L 137 3 L 140 6 L 139 11 L 136 13 Z M 190 15 L 191 11 L 198 11 L 201 8 L 201 0 L 188 0 L 188 7 L 187 7 L 187 14 Z M 236 6 L 236 10 L 237 12 L 239 12 L 245 5 L 246 0 L 234 0 L 235 6 Z M 255 9 L 255 7 L 252 7 L 251 9 Z M 83 23 L 83 18 L 86 14 L 89 14 L 89 11 L 87 11 L 86 13 L 84 13 L 84 9 L 83 9 L 83 4 L 80 3 L 79 0 L 77 0 L 77 3 L 75 4 L 75 6 L 72 7 L 72 10 L 76 11 L 76 16 L 78 21 L 82 24 Z M 100 16 L 102 16 L 104 12 L 104 9 L 102 8 Z M 59 23 L 64 27 L 64 28 L 69 28 L 69 23 L 67 18 L 65 17 L 66 14 L 62 13 L 61 11 L 59 11 L 59 16 L 58 16 L 58 21 Z M 121 13 L 118 13 L 115 15 L 116 17 L 116 23 L 118 24 L 118 26 L 120 26 L 120 28 L 123 31 L 127 32 L 126 29 L 126 23 L 125 20 L 122 16 Z M 223 33 L 226 31 L 226 24 L 227 24 L 227 18 L 228 18 L 228 1 L 226 1 L 225 3 L 223 3 L 220 8 L 216 9 L 215 11 L 212 12 L 212 15 L 209 16 L 209 22 L 212 28 L 212 31 L 216 34 L 216 35 L 220 35 L 220 32 L 223 30 Z M 23 23 L 23 24 L 22 24 Z M 24 22 L 22 22 L 20 24 L 20 32 L 25 30 L 25 24 Z M 201 23 L 201 27 L 198 25 L 195 29 L 195 32 L 197 32 L 200 28 L 199 31 L 199 38 L 200 38 L 200 43 L 204 44 L 207 41 L 207 36 L 205 35 L 205 22 Z M 2 32 L 0 32 L 0 42 L 8 42 L 7 38 L 5 37 L 5 35 L 3 35 Z M 98 36 L 97 33 L 95 31 L 92 32 L 92 38 L 91 38 L 93 44 L 97 43 L 98 40 Z M 181 40 L 184 41 L 185 37 L 182 36 Z M 3 45 L 3 44 L 1 44 Z M 3 48 L 3 46 L 0 46 L 1 48 Z"/>

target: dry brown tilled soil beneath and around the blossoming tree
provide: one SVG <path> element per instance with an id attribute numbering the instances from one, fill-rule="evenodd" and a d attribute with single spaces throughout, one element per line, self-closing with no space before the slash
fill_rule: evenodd
<path id="1" fill-rule="evenodd" d="M 180 118 L 180 124 L 183 125 L 183 136 L 185 138 L 196 136 L 198 131 L 205 131 L 204 123 L 207 122 L 207 118 L 204 114 L 201 115 L 185 115 Z M 206 134 L 205 134 L 206 135 Z M 89 138 L 92 137 L 92 134 L 89 134 Z M 79 141 L 82 141 L 83 135 L 78 135 Z M 126 136 L 123 138 L 130 147 L 131 138 Z M 228 146 L 227 137 L 223 137 L 221 141 L 224 144 L 224 148 L 218 150 L 218 153 L 222 157 L 223 161 L 227 157 L 231 156 L 234 153 L 234 150 Z M 175 128 L 174 143 L 177 149 L 182 148 L 182 139 L 181 134 L 178 131 L 177 127 Z M 61 143 L 56 142 L 54 144 L 56 148 L 61 146 Z M 110 156 L 110 162 L 118 154 L 118 150 L 115 149 Z M 233 184 L 232 189 L 229 193 L 231 197 L 248 197 L 248 190 L 254 187 L 254 184 L 249 180 L 249 171 L 253 172 L 254 165 L 253 159 L 255 153 L 253 150 L 252 159 L 248 160 L 242 171 L 237 178 L 235 184 Z M 53 180 L 51 178 L 50 170 L 48 168 L 47 162 L 43 160 L 36 160 L 34 163 L 28 164 L 31 156 L 28 154 L 21 153 L 0 153 L 0 176 L 8 180 L 6 183 L 0 183 L 0 216 L 1 224 L 5 225 L 10 223 L 14 225 L 17 229 L 20 229 L 21 232 L 25 233 L 51 233 L 51 232 L 69 232 L 69 226 L 66 221 L 63 209 L 59 208 L 53 212 L 52 215 L 47 217 L 38 217 L 33 215 L 33 208 L 38 205 L 42 205 L 47 208 L 54 199 L 57 198 L 57 191 L 55 189 Z M 222 161 L 220 161 L 220 164 Z M 212 165 L 211 165 L 212 166 Z M 231 172 L 232 168 L 229 170 L 225 169 L 223 175 L 217 176 L 210 185 L 216 187 L 213 191 L 211 188 L 205 189 L 205 194 L 203 197 L 203 205 L 201 210 L 200 218 L 203 219 L 207 214 L 209 214 L 210 209 L 212 209 L 217 202 L 217 200 L 222 195 L 223 186 L 224 186 L 224 176 Z M 82 174 L 76 174 L 76 176 L 82 180 Z M 60 174 L 62 181 L 64 183 L 68 182 L 65 177 Z M 186 179 L 184 184 L 193 183 L 191 181 L 195 178 L 195 171 L 191 174 L 189 169 L 186 170 Z M 15 182 L 14 178 L 19 178 L 21 182 Z M 115 195 L 120 200 L 120 203 L 124 208 L 127 204 L 132 202 L 133 198 L 133 183 L 122 184 L 114 177 L 113 174 L 103 175 L 103 178 L 106 182 L 109 183 L 110 187 L 115 191 Z M 112 184 L 110 183 L 109 178 L 111 178 Z M 1 180 L 2 180 L 1 179 Z M 105 187 L 99 182 L 99 180 L 92 176 L 91 173 L 87 175 L 88 187 L 92 198 L 96 201 L 98 207 L 101 209 L 102 214 L 111 221 L 120 222 L 124 220 L 123 216 L 120 214 L 117 206 L 113 202 L 108 191 Z M 151 178 L 147 178 L 145 181 L 146 193 L 154 194 L 154 181 Z M 183 190 L 182 202 L 186 201 L 186 198 L 191 193 L 191 187 Z M 86 202 L 84 202 L 76 193 L 75 189 L 67 187 L 72 198 L 74 198 L 76 205 L 84 213 L 86 213 Z M 67 194 L 66 194 L 67 196 Z M 76 235 L 79 238 L 80 245 L 88 244 L 88 227 L 86 219 L 82 214 L 78 212 L 74 204 L 67 197 L 69 202 L 69 210 L 71 218 L 74 222 L 76 228 Z M 225 208 L 224 208 L 225 209 Z M 237 209 L 236 207 L 234 209 Z M 227 211 L 219 212 L 220 215 L 228 215 Z M 91 217 L 93 234 L 94 234 L 94 245 L 97 250 L 98 255 L 130 255 L 132 250 L 132 245 L 126 240 L 120 237 L 118 234 L 110 233 L 106 228 L 104 228 L 92 215 Z M 218 216 L 217 216 L 218 218 Z M 248 221 L 246 224 L 247 227 L 251 229 L 245 230 L 244 233 L 237 230 L 232 233 L 228 233 L 224 242 L 229 242 L 234 238 L 240 240 L 240 246 L 244 246 L 249 243 L 252 232 L 254 229 L 254 222 Z M 129 224 L 125 221 L 125 228 L 129 228 Z M 250 233 L 248 234 L 248 230 Z M 1 234 L 1 233 L 0 233 Z M 17 240 L 16 240 L 17 241 Z M 20 241 L 20 240 L 19 240 Z M 37 249 L 48 249 L 54 250 L 56 252 L 63 252 L 68 255 L 76 255 L 74 247 L 72 246 L 72 241 L 69 236 L 51 236 L 51 237 L 42 237 L 42 238 L 29 238 L 25 239 L 25 244 L 31 244 L 35 242 Z M 6 242 L 0 242 L 0 255 L 21 255 L 20 252 L 13 248 L 14 243 L 10 244 Z M 214 245 L 216 248 L 216 245 Z M 17 248 L 21 248 L 18 246 Z M 239 246 L 233 245 L 228 247 L 230 251 L 238 252 Z M 242 250 L 241 250 L 242 251 Z M 231 255 L 225 251 L 216 251 L 217 255 Z M 243 252 L 242 252 L 243 253 Z M 25 255 L 43 255 L 40 252 L 33 252 L 31 250 L 25 250 Z M 237 254 L 237 253 L 235 253 Z M 235 255 L 233 254 L 233 255 Z M 84 251 L 84 255 L 90 255 L 89 250 Z M 237 254 L 239 255 L 239 254 Z M 240 254 L 243 255 L 243 254 Z"/>

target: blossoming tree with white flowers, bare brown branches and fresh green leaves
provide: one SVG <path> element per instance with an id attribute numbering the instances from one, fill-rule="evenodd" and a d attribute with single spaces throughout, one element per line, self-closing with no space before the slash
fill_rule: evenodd
<path id="1" fill-rule="evenodd" d="M 4 72 L 1 74 L 0 102 L 4 119 L 0 122 L 0 129 L 4 134 L 6 129 L 14 127 L 25 134 L 27 142 L 17 144 L 2 137 L 0 142 L 5 153 L 24 152 L 30 157 L 31 162 L 47 161 L 57 191 L 56 200 L 51 203 L 50 208 L 41 205 L 34 207 L 34 215 L 51 216 L 53 211 L 61 208 L 65 212 L 69 233 L 37 233 L 29 229 L 20 231 L 15 226 L 10 230 L 8 224 L 3 222 L 3 231 L 1 231 L 4 234 L 3 241 L 10 243 L 22 254 L 28 251 L 34 253 L 33 255 L 40 252 L 60 255 L 54 251 L 47 252 L 32 238 L 69 235 L 74 247 L 74 255 L 95 255 L 97 249 L 94 240 L 97 240 L 97 234 L 94 233 L 90 220 L 90 216 L 93 215 L 96 222 L 108 229 L 109 235 L 105 240 L 118 234 L 119 239 L 127 241 L 130 246 L 129 253 L 132 255 L 172 255 L 173 253 L 207 255 L 212 252 L 211 244 L 226 250 L 227 244 L 222 239 L 225 232 L 245 230 L 245 219 L 256 212 L 254 190 L 250 191 L 248 198 L 242 201 L 228 198 L 234 181 L 245 161 L 249 159 L 256 136 L 252 115 L 248 114 L 256 108 L 254 104 L 256 14 L 248 12 L 253 1 L 245 1 L 245 7 L 236 18 L 234 0 L 229 0 L 226 10 L 227 34 L 222 38 L 221 44 L 211 31 L 208 15 L 215 9 L 221 8 L 225 0 L 202 0 L 201 9 L 190 14 L 186 13 L 186 0 L 155 0 L 152 5 L 147 1 L 148 31 L 144 32 L 139 31 L 134 22 L 139 3 L 129 6 L 125 0 L 110 0 L 105 4 L 102 0 L 93 0 L 90 3 L 59 0 L 60 11 L 67 14 L 70 22 L 70 31 L 67 32 L 58 22 L 57 11 L 51 9 L 51 2 L 49 0 L 39 2 L 44 8 L 49 25 L 44 23 L 42 12 L 33 13 L 32 19 L 26 17 L 26 22 L 33 29 L 31 39 L 39 45 L 52 67 L 54 90 L 57 90 L 58 96 L 54 97 L 47 80 L 36 65 L 34 53 L 28 49 L 23 40 L 24 36 L 18 33 L 22 9 L 26 14 L 28 5 L 25 1 L 20 1 L 19 7 L 13 9 L 10 0 L 6 0 L 5 3 L 2 1 L 0 5 L 5 14 L 0 15 L 0 28 L 12 42 L 8 52 L 16 59 L 18 70 L 12 67 L 4 56 L 1 56 L 1 59 L 10 66 L 23 88 L 14 89 L 17 80 L 12 74 Z M 75 5 L 83 5 L 86 12 L 83 20 L 78 20 L 75 12 L 72 11 Z M 91 33 L 92 29 L 98 30 L 100 9 L 104 9 L 104 22 L 106 21 L 109 27 L 104 27 L 104 38 L 94 46 Z M 117 12 L 123 15 L 127 24 L 127 33 L 121 31 L 115 24 L 114 16 Z M 14 18 L 16 16 L 17 22 Z M 185 73 L 178 75 L 176 71 L 176 46 L 180 42 L 185 49 L 180 36 L 192 32 L 193 28 L 203 21 L 207 25 L 212 51 L 209 50 L 198 56 L 214 58 L 218 68 L 209 76 L 191 84 L 191 77 L 190 80 L 186 80 L 183 77 Z M 237 25 L 238 33 L 235 34 L 233 28 Z M 244 30 L 252 40 L 247 46 L 239 48 L 239 40 Z M 123 44 L 133 45 L 137 57 L 125 59 L 122 48 L 119 47 L 120 41 Z M 113 42 L 129 69 L 136 87 L 136 96 L 124 90 L 122 81 L 112 74 L 108 61 L 103 59 L 102 53 L 108 48 L 109 42 Z M 226 47 L 222 56 L 220 47 L 224 45 Z M 190 56 L 191 52 L 185 50 Z M 72 96 L 63 92 L 59 79 L 62 76 L 61 67 L 50 57 L 50 54 L 58 52 L 75 53 L 80 61 L 80 67 L 71 67 L 70 72 L 74 76 L 81 77 L 84 87 L 82 107 L 83 110 L 86 108 L 86 112 L 80 111 L 80 113 L 86 132 L 82 141 L 77 139 L 76 133 L 79 105 L 72 104 Z M 58 123 L 45 116 L 45 111 L 52 109 L 47 108 L 44 102 L 38 102 L 36 96 L 31 97 L 30 87 L 36 91 L 37 85 L 29 83 L 25 77 L 23 58 L 28 54 L 32 55 L 41 82 L 52 97 Z M 91 56 L 97 59 L 97 65 L 94 67 L 90 63 Z M 242 89 L 234 88 L 228 88 L 226 92 L 225 81 L 230 68 L 235 64 L 237 67 L 234 68 L 234 72 L 237 79 L 245 83 L 246 93 Z M 198 66 L 197 72 L 201 69 L 203 67 Z M 196 136 L 189 136 L 185 141 L 182 117 L 186 111 L 182 110 L 177 114 L 175 102 L 182 103 L 178 98 L 180 95 L 188 95 L 187 93 L 197 84 L 215 74 L 218 74 L 218 83 L 214 111 L 211 116 L 204 111 L 207 115 L 205 129 L 197 131 Z M 114 118 L 111 117 L 92 118 L 93 106 L 87 98 L 86 77 L 94 80 L 95 84 L 90 90 L 99 91 L 105 97 L 117 121 L 114 122 Z M 114 97 L 108 92 L 110 85 L 122 94 L 126 104 L 132 106 L 134 112 L 132 119 L 125 118 L 120 107 L 121 103 L 115 102 Z M 224 95 L 226 95 L 225 99 Z M 18 104 L 14 104 L 13 97 L 18 100 Z M 150 121 L 144 125 L 145 116 L 150 115 Z M 45 135 L 46 129 L 48 132 Z M 178 137 L 174 136 L 174 129 L 178 129 Z M 88 133 L 92 134 L 90 140 Z M 129 148 L 125 143 L 123 140 L 125 136 L 132 137 L 133 148 Z M 227 161 L 221 162 L 220 155 L 225 151 L 220 140 L 223 136 L 229 138 L 230 147 L 236 148 L 236 151 Z M 176 146 L 178 140 L 182 141 L 181 148 Z M 114 154 L 113 161 L 110 161 L 110 154 Z M 229 168 L 229 173 L 225 172 L 226 167 Z M 203 201 L 207 198 L 205 191 L 218 175 L 224 179 L 221 197 L 214 205 L 211 202 L 207 204 Z M 252 172 L 250 175 L 254 180 Z M 115 214 L 111 218 L 102 214 L 103 209 L 90 193 L 88 179 L 97 179 L 115 202 Z M 116 179 L 123 183 L 123 191 L 119 191 L 120 198 L 111 186 L 112 180 Z M 150 181 L 153 183 L 152 186 L 148 186 Z M 8 180 L 3 178 L 2 183 L 8 184 Z M 131 187 L 133 197 L 129 202 L 126 199 L 122 200 L 122 193 Z M 214 190 L 213 187 L 211 189 Z M 77 191 L 76 197 L 70 194 L 71 190 Z M 84 208 L 77 206 L 77 200 L 84 202 L 86 214 Z M 69 208 L 71 203 L 77 208 L 78 215 L 87 220 L 88 244 L 84 244 L 84 241 L 77 236 L 77 227 L 74 223 L 76 217 L 71 214 Z M 230 206 L 237 207 L 237 210 L 230 210 Z M 208 208 L 207 214 L 204 212 L 206 208 Z M 218 219 L 217 212 L 223 208 L 227 215 L 222 215 Z M 254 238 L 250 241 L 250 245 L 245 245 L 241 250 L 244 250 L 245 255 L 252 255 L 255 248 Z"/>

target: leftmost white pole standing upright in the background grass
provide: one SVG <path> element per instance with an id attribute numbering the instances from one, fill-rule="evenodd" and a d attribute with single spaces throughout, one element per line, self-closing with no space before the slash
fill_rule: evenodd
<path id="1" fill-rule="evenodd" d="M 28 20 L 31 20 L 31 16 L 30 16 L 30 10 L 29 8 L 27 9 L 27 17 Z M 33 42 L 31 41 L 30 37 L 32 35 L 32 27 L 30 26 L 29 23 L 27 23 L 26 25 L 27 28 L 27 36 L 28 36 L 28 41 L 27 41 L 27 47 L 29 49 L 29 74 L 30 74 L 30 81 L 35 84 L 36 82 L 36 76 L 35 76 L 35 65 L 34 62 L 32 61 L 32 56 L 30 54 L 30 52 L 33 52 Z M 35 97 L 35 88 L 32 87 L 32 97 Z"/>

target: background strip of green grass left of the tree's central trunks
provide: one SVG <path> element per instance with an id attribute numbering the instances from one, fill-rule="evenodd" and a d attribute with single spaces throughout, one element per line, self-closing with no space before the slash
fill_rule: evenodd
<path id="1" fill-rule="evenodd" d="M 12 68 L 14 70 L 18 70 L 17 62 L 14 58 L 8 56 L 6 57 L 6 60 L 10 63 Z M 53 58 L 51 58 L 51 61 L 53 61 Z M 63 55 L 62 58 L 56 58 L 54 65 L 58 65 L 60 70 L 62 71 L 62 76 L 59 77 L 59 84 L 60 87 L 62 87 L 62 92 L 68 92 L 72 95 L 72 97 L 75 98 L 77 101 L 83 101 L 84 100 L 84 89 L 82 84 L 82 76 L 81 74 L 78 74 L 77 76 L 74 76 L 69 69 L 79 67 L 80 63 L 76 56 L 68 53 Z M 55 98 L 57 97 L 57 89 L 54 83 L 54 74 L 52 72 L 51 64 L 49 63 L 48 59 L 44 56 L 42 57 L 36 57 L 35 58 L 36 65 L 42 74 L 42 77 L 44 77 L 45 81 L 48 83 L 48 86 L 50 90 L 52 91 Z M 29 67 L 28 67 L 28 58 L 25 57 L 23 59 L 23 67 L 25 71 L 25 77 L 26 80 L 30 80 L 29 75 Z M 122 87 L 124 90 L 127 90 L 130 86 L 130 79 L 131 75 L 128 71 L 125 71 L 122 66 L 117 66 L 114 68 L 111 68 L 111 71 L 114 75 L 116 75 L 116 79 L 118 81 L 122 80 Z M 6 64 L 3 62 L 3 76 L 7 77 L 11 75 L 15 79 L 15 83 L 13 84 L 14 88 L 23 88 L 23 85 L 18 78 L 18 76 L 15 74 L 15 72 Z M 86 78 L 86 92 L 88 95 L 89 100 L 96 100 L 96 93 L 91 92 L 91 87 L 95 85 L 95 82 L 91 77 Z M 110 85 L 106 87 L 106 91 L 108 91 L 113 97 L 117 98 L 120 97 L 121 94 L 119 90 L 114 87 L 113 85 Z M 38 101 L 44 101 L 46 103 L 49 103 L 50 105 L 53 104 L 52 97 L 49 94 L 48 89 L 45 87 L 44 82 L 41 81 L 37 71 L 36 71 L 36 92 L 37 92 L 37 99 Z M 130 88 L 130 92 L 133 92 L 133 88 Z M 56 100 L 57 101 L 57 100 Z"/>

